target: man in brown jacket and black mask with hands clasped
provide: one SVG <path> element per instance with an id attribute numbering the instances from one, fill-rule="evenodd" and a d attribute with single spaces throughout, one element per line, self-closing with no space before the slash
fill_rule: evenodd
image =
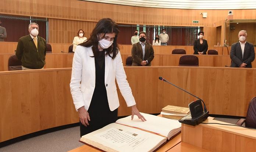
<path id="1" fill-rule="evenodd" d="M 146 43 L 146 33 L 139 33 L 139 42 L 132 45 L 132 66 L 151 66 L 154 59 L 154 49 Z"/>

